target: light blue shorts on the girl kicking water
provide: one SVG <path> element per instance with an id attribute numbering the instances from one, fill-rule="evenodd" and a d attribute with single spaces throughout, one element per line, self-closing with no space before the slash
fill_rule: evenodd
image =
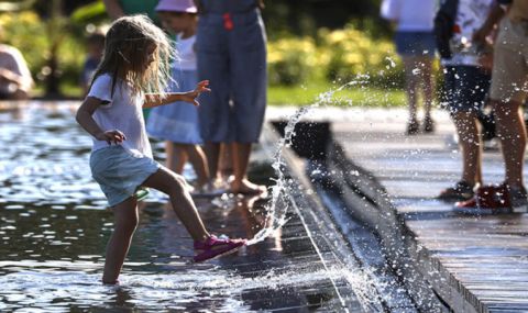
<path id="1" fill-rule="evenodd" d="M 98 149 L 90 156 L 91 176 L 110 206 L 132 197 L 160 168 L 161 165 L 152 158 L 134 155 L 120 145 Z"/>

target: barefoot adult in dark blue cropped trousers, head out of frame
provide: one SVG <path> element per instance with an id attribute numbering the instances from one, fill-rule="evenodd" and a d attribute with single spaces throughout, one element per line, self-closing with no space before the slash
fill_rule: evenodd
<path id="1" fill-rule="evenodd" d="M 266 34 L 263 1 L 195 0 L 198 79 L 210 81 L 198 109 L 209 172 L 218 169 L 220 145 L 231 146 L 233 193 L 261 194 L 248 179 L 252 144 L 258 142 L 266 109 Z"/>

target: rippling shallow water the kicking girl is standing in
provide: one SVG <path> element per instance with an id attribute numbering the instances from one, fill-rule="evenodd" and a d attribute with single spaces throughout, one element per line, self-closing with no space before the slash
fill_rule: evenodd
<path id="1" fill-rule="evenodd" d="M 141 208 L 121 284 L 102 286 L 113 220 L 90 177 L 91 141 L 74 121 L 77 105 L 0 107 L 1 312 L 251 312 L 321 308 L 321 299 L 332 299 L 323 286 L 343 272 L 292 261 L 293 255 L 311 257 L 307 241 L 295 232 L 284 236 L 276 230 L 237 255 L 190 265 L 191 241 L 156 192 Z M 160 160 L 162 147 L 154 145 Z M 193 179 L 190 168 L 186 176 Z M 210 231 L 250 238 L 266 223 L 261 202 L 197 200 Z"/>

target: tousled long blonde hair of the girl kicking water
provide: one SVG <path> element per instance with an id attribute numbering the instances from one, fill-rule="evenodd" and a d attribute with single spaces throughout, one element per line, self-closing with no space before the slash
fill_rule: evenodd
<path id="1" fill-rule="evenodd" d="M 148 60 L 147 48 L 154 45 L 153 62 Z M 116 20 L 108 30 L 105 53 L 94 75 L 112 76 L 112 93 L 117 79 L 121 78 L 134 94 L 155 92 L 165 94 L 170 78 L 170 63 L 177 58 L 170 40 L 145 15 L 130 15 Z M 92 80 L 92 83 L 94 83 Z"/>

